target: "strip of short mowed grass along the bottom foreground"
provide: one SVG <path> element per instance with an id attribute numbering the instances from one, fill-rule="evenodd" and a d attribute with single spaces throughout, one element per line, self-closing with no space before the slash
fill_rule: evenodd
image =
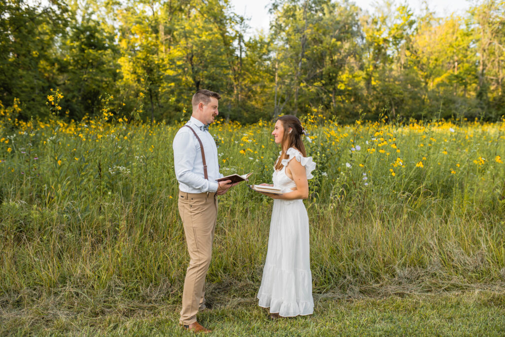
<path id="1" fill-rule="evenodd" d="M 176 305 L 123 303 L 44 312 L 44 308 L 4 311 L 0 334 L 187 335 L 178 325 Z M 346 298 L 315 298 L 310 316 L 271 321 L 253 298 L 228 298 L 199 314 L 213 335 L 486 335 L 505 333 L 505 294 L 490 291 Z"/>

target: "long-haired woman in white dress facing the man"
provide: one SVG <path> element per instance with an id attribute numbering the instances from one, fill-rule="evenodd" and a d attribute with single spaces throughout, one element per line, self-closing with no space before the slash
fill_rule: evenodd
<path id="1" fill-rule="evenodd" d="M 270 318 L 309 315 L 314 311 L 309 259 L 309 217 L 302 199 L 309 197 L 309 182 L 316 164 L 306 157 L 298 118 L 280 117 L 272 135 L 281 146 L 273 184 L 283 194 L 263 193 L 274 200 L 268 251 L 258 292 L 259 306 L 270 308 Z M 268 184 L 263 184 L 268 185 Z"/>

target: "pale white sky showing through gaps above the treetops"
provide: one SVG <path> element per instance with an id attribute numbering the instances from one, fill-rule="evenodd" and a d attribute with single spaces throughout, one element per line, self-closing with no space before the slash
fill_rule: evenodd
<path id="1" fill-rule="evenodd" d="M 351 1 L 369 12 L 373 12 L 373 4 L 377 3 L 376 0 Z M 396 1 L 395 3 L 403 4 L 405 2 L 417 12 L 422 7 L 421 0 Z M 250 35 L 255 35 L 261 29 L 265 33 L 268 32 L 270 22 L 268 7 L 271 0 L 254 0 L 254 2 L 250 0 L 230 0 L 230 3 L 235 8 L 235 13 L 250 18 L 249 26 L 251 26 L 251 31 L 248 32 Z M 439 16 L 449 16 L 452 12 L 464 14 L 471 5 L 467 0 L 427 0 L 427 3 L 428 8 Z"/>

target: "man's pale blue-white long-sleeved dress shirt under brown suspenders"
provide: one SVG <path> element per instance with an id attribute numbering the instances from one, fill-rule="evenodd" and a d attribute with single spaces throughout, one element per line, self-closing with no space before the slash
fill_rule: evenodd
<path id="1" fill-rule="evenodd" d="M 215 192 L 218 189 L 216 179 L 223 176 L 219 173 L 216 142 L 208 131 L 203 130 L 204 123 L 196 118 L 191 116 L 186 125 L 189 125 L 196 132 L 204 145 L 209 180 L 205 179 L 200 144 L 193 132 L 183 126 L 177 131 L 172 144 L 175 176 L 179 181 L 179 189 L 187 193 Z"/>

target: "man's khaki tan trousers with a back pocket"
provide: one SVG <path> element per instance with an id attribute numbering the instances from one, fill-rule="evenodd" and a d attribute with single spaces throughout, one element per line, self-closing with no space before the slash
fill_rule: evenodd
<path id="1" fill-rule="evenodd" d="M 196 322 L 196 313 L 205 308 L 205 276 L 211 263 L 218 201 L 215 193 L 179 191 L 178 206 L 189 252 L 179 323 L 188 325 Z"/>

